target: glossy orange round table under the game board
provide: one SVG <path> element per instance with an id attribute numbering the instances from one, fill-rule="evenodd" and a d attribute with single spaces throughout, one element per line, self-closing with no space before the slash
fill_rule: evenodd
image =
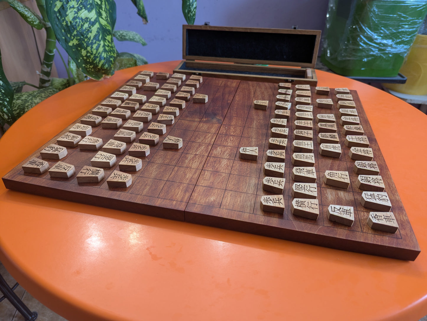
<path id="1" fill-rule="evenodd" d="M 138 70 L 53 95 L 0 139 L 3 176 Z M 427 314 L 427 116 L 358 81 L 358 91 L 421 247 L 414 262 L 159 219 L 0 184 L 0 260 L 73 320 L 418 320 Z"/>

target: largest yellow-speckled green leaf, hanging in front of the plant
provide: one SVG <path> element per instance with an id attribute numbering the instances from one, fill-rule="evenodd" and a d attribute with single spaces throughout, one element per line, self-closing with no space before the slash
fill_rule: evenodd
<path id="1" fill-rule="evenodd" d="M 114 74 L 114 0 L 46 0 L 56 38 L 77 67 L 96 80 Z"/>

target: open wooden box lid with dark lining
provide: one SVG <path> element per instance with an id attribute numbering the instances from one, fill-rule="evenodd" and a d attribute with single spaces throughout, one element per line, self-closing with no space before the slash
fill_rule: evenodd
<path id="1" fill-rule="evenodd" d="M 182 58 L 312 67 L 320 30 L 182 26 Z"/>

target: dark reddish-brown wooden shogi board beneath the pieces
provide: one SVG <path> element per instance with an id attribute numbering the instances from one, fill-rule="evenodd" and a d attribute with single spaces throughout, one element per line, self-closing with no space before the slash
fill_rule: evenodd
<path id="1" fill-rule="evenodd" d="M 160 87 L 166 82 L 156 80 L 155 76 L 150 81 L 158 82 Z M 185 86 L 185 81 L 181 86 Z M 113 168 L 104 168 L 105 178 L 99 183 L 78 184 L 76 174 L 69 179 L 51 179 L 48 172 L 24 174 L 21 166 L 32 157 L 41 158 L 39 150 L 4 176 L 3 181 L 7 188 L 47 197 L 335 249 L 415 260 L 420 252 L 418 243 L 356 91 L 352 90 L 351 94 L 356 103 L 361 125 L 373 149 L 373 160 L 377 162 L 380 175 L 385 182 L 385 191 L 392 203 L 391 211 L 399 225 L 398 231 L 395 234 L 377 231 L 366 223 L 369 212 L 373 210 L 364 208 L 359 202 L 362 191 L 355 184 L 357 174 L 353 171 L 354 160 L 349 158 L 349 148 L 344 145 L 345 136 L 341 133 L 342 126 L 339 124 L 333 89 L 330 90 L 329 97 L 325 97 L 316 95 L 314 87 L 311 87 L 312 102 L 316 101 L 316 98 L 332 98 L 334 101 L 332 110 L 313 107 L 313 153 L 316 158 L 314 166 L 317 174 L 319 218 L 310 220 L 291 213 L 291 187 L 294 181 L 291 178 L 293 165 L 290 146 L 295 129 L 293 101 L 296 91 L 293 87 L 291 115 L 287 125 L 289 135 L 285 160 L 283 214 L 260 209 L 261 196 L 274 194 L 263 191 L 262 180 L 265 176 L 263 174 L 265 153 L 269 149 L 269 120 L 274 118 L 276 95 L 279 94 L 278 84 L 264 82 L 203 77 L 203 82 L 196 89 L 196 93 L 208 95 L 208 102 L 195 104 L 191 98 L 186 107 L 179 110 L 180 114 L 175 117 L 175 123 L 167 125 L 167 133 L 160 136 L 158 145 L 150 146 L 147 157 L 140 157 L 143 162 L 142 169 L 128 172 L 132 174 L 132 185 L 128 188 L 108 188 L 105 182 L 112 171 L 118 170 L 117 165 Z M 148 101 L 155 92 L 141 89 L 137 90 L 137 93 L 146 95 Z M 176 93 L 172 93 L 166 105 Z M 254 100 L 269 100 L 267 110 L 254 109 Z M 91 106 L 88 113 L 94 107 Z M 132 115 L 134 113 L 132 112 Z M 315 121 L 318 113 L 335 114 L 339 143 L 342 147 L 339 159 L 319 154 Z M 158 115 L 153 115 L 152 121 L 156 121 Z M 77 120 L 73 124 L 76 122 Z M 62 133 L 67 132 L 73 124 Z M 144 123 L 143 131 L 148 125 L 149 123 Z M 143 131 L 137 133 L 137 139 Z M 102 129 L 99 125 L 93 127 L 91 136 L 102 138 L 105 143 L 112 139 L 116 132 L 117 129 Z M 56 138 L 62 133 L 56 135 L 46 145 L 55 143 Z M 164 149 L 161 142 L 167 135 L 182 138 L 183 147 L 178 150 Z M 127 149 L 131 145 L 132 143 L 127 143 Z M 239 147 L 252 146 L 259 149 L 258 160 L 240 159 Z M 91 165 L 90 160 L 97 153 L 97 150 L 80 151 L 79 147 L 67 147 L 67 150 L 67 156 L 61 161 L 74 165 L 76 173 L 79 173 L 83 166 Z M 117 155 L 117 164 L 126 155 L 127 151 Z M 44 160 L 48 161 L 50 166 L 57 162 Z M 325 185 L 322 178 L 327 170 L 348 171 L 351 176 L 350 187 L 346 190 Z M 353 206 L 355 217 L 353 226 L 328 220 L 326 213 L 331 204 Z"/>

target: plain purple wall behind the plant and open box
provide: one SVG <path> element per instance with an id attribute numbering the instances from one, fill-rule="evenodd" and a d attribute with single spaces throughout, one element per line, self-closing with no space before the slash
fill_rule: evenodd
<path id="1" fill-rule="evenodd" d="M 119 42 L 119 52 L 144 56 L 149 63 L 182 59 L 182 25 L 186 24 L 179 0 L 144 1 L 149 23 L 144 25 L 129 0 L 116 0 L 116 29 L 138 32 L 148 43 L 143 47 Z M 325 26 L 328 0 L 199 0 L 196 22 L 211 26 L 320 29 Z M 58 45 L 59 46 L 59 45 Z M 64 58 L 67 54 L 61 49 Z M 67 77 L 59 55 L 55 56 L 59 77 Z"/>

